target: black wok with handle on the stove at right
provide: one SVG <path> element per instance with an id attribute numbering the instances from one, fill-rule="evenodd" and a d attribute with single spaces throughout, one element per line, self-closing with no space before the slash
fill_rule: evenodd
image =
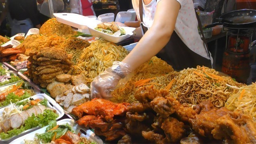
<path id="1" fill-rule="evenodd" d="M 231 29 L 248 29 L 256 27 L 256 10 L 235 10 L 220 16 L 218 22 L 209 24 L 204 28 L 212 28 L 217 25 L 222 25 Z"/>

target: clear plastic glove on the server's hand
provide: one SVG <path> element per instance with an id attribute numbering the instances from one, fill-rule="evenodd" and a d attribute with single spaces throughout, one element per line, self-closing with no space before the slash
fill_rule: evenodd
<path id="1" fill-rule="evenodd" d="M 120 69 L 118 69 L 118 66 L 120 66 Z M 126 84 L 131 76 L 132 71 L 128 64 L 117 61 L 113 62 L 112 67 L 107 68 L 91 82 L 91 99 L 111 98 L 110 93 Z"/>

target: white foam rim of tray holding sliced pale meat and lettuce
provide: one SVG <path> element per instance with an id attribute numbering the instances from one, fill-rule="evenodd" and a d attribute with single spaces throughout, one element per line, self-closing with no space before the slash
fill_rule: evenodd
<path id="1" fill-rule="evenodd" d="M 30 98 L 34 98 L 34 99 L 40 99 L 40 100 L 43 100 L 43 99 L 46 99 L 47 100 L 47 108 L 52 108 L 54 110 L 56 110 L 56 113 L 59 115 L 58 118 L 56 118 L 56 120 L 62 118 L 62 116 L 64 116 L 64 110 L 60 107 L 60 105 L 58 105 L 55 100 L 53 100 L 52 98 L 50 98 L 49 96 L 47 96 L 46 94 L 36 94 L 34 96 L 31 96 L 29 98 L 26 98 L 24 100 L 29 100 Z M 24 101 L 22 100 L 22 101 Z M 8 106 L 10 107 L 10 105 Z M 5 107 L 6 108 L 6 107 Z M 2 112 L 4 111 L 4 108 L 1 108 L 0 109 L 0 116 L 2 116 Z M 15 138 L 18 138 L 24 134 L 28 134 L 28 132 L 32 131 L 32 130 L 36 130 L 36 129 L 39 129 L 40 126 L 36 126 L 34 128 L 30 128 L 28 130 L 25 130 L 24 132 L 18 134 L 18 136 L 13 136 L 13 137 L 10 137 L 10 138 L 7 138 L 7 139 L 4 139 L 4 140 L 0 140 L 0 143 L 10 143 L 12 140 L 14 140 Z M 44 127 L 46 128 L 46 127 Z M 26 136 L 25 136 L 26 137 Z M 16 144 L 16 143 L 14 143 Z"/>

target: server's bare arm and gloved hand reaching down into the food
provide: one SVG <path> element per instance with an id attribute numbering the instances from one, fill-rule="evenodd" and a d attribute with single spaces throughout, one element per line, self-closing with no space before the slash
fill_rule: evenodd
<path id="1" fill-rule="evenodd" d="M 180 3 L 176 0 L 158 2 L 152 27 L 144 34 L 130 54 L 124 58 L 120 64 L 121 72 L 128 76 L 140 65 L 155 56 L 168 43 L 174 31 L 179 10 Z M 136 28 L 136 31 L 139 30 L 140 28 Z M 123 68 L 124 64 L 126 65 L 125 68 Z M 108 75 L 100 74 L 91 83 L 91 97 L 111 97 L 109 91 L 114 90 L 117 82 L 121 79 L 113 72 L 109 72 Z"/>

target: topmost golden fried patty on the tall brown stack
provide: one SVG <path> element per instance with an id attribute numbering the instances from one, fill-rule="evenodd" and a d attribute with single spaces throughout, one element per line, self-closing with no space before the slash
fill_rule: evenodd
<path id="1" fill-rule="evenodd" d="M 54 58 L 57 60 L 65 61 L 68 59 L 68 54 L 65 50 L 62 50 L 61 48 L 42 48 L 39 50 L 38 54 L 36 55 L 37 58 L 40 57 L 46 57 L 46 58 Z"/>

